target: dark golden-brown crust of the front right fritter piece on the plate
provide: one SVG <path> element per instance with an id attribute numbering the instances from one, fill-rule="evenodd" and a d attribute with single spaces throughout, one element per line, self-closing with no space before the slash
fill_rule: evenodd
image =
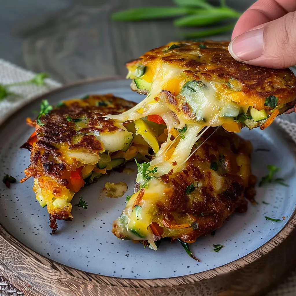
<path id="1" fill-rule="evenodd" d="M 213 128 L 206 131 L 198 143 L 202 143 L 212 132 Z M 153 213 L 152 223 L 161 227 L 158 239 L 179 238 L 192 243 L 197 237 L 221 227 L 235 210 L 245 212 L 245 198 L 253 200 L 255 196 L 253 187 L 256 179 L 251 174 L 251 152 L 249 141 L 219 128 L 181 171 L 158 177 L 165 186 L 163 194 L 160 193 L 160 199 L 153 205 L 150 202 L 149 209 L 144 210 L 149 215 Z M 186 192 L 190 185 L 194 185 L 195 189 Z M 147 197 L 142 194 L 141 204 L 145 206 L 146 199 L 152 195 L 151 191 Z M 120 218 L 116 220 L 112 232 L 118 238 L 127 239 L 126 225 L 121 223 Z"/>

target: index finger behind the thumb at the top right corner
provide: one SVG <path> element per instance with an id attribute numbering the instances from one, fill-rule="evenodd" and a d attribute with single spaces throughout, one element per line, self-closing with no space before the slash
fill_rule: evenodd
<path id="1" fill-rule="evenodd" d="M 258 0 L 239 18 L 233 30 L 232 39 L 295 10 L 295 0 Z"/>

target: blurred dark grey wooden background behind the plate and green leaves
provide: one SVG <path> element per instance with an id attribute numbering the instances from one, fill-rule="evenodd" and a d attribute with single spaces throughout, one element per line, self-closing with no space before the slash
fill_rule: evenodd
<path id="1" fill-rule="evenodd" d="M 226 0 L 239 12 L 255 0 Z M 209 1 L 217 5 L 218 1 Z M 125 62 L 170 41 L 184 40 L 172 19 L 116 22 L 111 14 L 144 6 L 174 6 L 173 0 L 2 0 L 0 58 L 62 83 L 126 75 Z M 229 23 L 221 21 L 218 26 Z M 217 27 L 217 25 L 215 25 Z M 211 28 L 207 26 L 206 28 Z M 203 39 L 230 40 L 231 33 Z"/>

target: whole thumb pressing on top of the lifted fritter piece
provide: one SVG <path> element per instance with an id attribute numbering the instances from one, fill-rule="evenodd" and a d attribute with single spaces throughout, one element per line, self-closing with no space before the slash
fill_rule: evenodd
<path id="1" fill-rule="evenodd" d="M 296 65 L 296 12 L 237 36 L 229 52 L 250 65 L 277 69 Z"/>

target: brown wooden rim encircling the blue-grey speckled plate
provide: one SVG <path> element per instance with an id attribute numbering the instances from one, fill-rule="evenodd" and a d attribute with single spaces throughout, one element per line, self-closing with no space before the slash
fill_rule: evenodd
<path id="1" fill-rule="evenodd" d="M 31 102 L 34 102 L 39 99 L 46 99 L 46 97 L 51 96 L 52 94 L 65 91 L 66 89 L 69 89 L 74 86 L 79 86 L 83 84 L 91 84 L 91 83 L 97 83 L 100 81 L 110 81 L 110 80 L 119 80 L 124 79 L 125 77 L 116 75 L 116 76 L 108 76 L 108 77 L 102 77 L 102 78 L 87 78 L 79 81 L 75 81 L 72 83 L 67 83 L 65 85 L 62 85 L 60 87 L 57 87 L 51 91 L 48 91 L 42 95 L 38 95 L 34 97 L 29 102 L 26 102 L 24 104 L 20 104 L 20 106 L 16 110 L 12 110 L 11 112 L 8 112 L 5 114 L 3 118 L 0 119 L 0 125 L 2 125 L 8 118 L 12 117 L 16 112 L 18 112 L 22 107 L 27 106 Z M 280 128 L 285 132 L 285 135 L 287 135 L 287 132 L 281 128 L 277 124 L 277 128 Z M 292 141 L 289 137 L 287 137 L 287 140 Z M 293 142 L 293 141 L 292 141 Z M 294 142 L 293 142 L 294 143 Z M 295 143 L 294 143 L 295 144 Z M 38 274 L 42 275 L 42 282 L 44 284 L 49 284 L 51 287 L 54 287 L 54 291 L 59 292 L 65 292 L 65 287 L 70 287 L 66 283 L 66 281 L 70 281 L 71 283 L 75 283 L 81 285 L 84 284 L 86 286 L 92 285 L 95 286 L 113 286 L 118 288 L 160 288 L 165 286 L 181 286 L 184 284 L 193 284 L 198 281 L 208 280 L 218 275 L 226 275 L 229 274 L 231 271 L 236 271 L 238 269 L 243 268 L 244 266 L 254 262 L 255 260 L 259 259 L 263 255 L 266 255 L 268 252 L 273 250 L 276 246 L 281 244 L 288 236 L 289 234 L 295 229 L 296 226 L 296 209 L 294 210 L 293 214 L 291 215 L 289 221 L 287 224 L 274 236 L 272 237 L 268 242 L 263 244 L 261 247 L 259 247 L 256 250 L 253 250 L 249 254 L 235 260 L 232 262 L 229 262 L 225 265 L 215 267 L 213 269 L 202 271 L 195 274 L 188 274 L 185 276 L 178 276 L 178 277 L 170 277 L 170 278 L 161 278 L 161 279 L 130 279 L 130 278 L 122 278 L 122 277 L 112 277 L 112 276 L 104 276 L 94 273 L 89 273 L 85 271 L 81 271 L 76 268 L 72 268 L 69 266 L 66 266 L 62 263 L 58 263 L 52 259 L 46 258 L 37 252 L 33 251 L 29 247 L 25 246 L 22 242 L 20 242 L 18 239 L 13 237 L 9 231 L 7 231 L 0 223 L 0 272 L 3 274 L 4 277 L 6 277 L 9 282 L 11 282 L 15 287 L 21 289 L 23 292 L 30 293 L 28 295 L 49 295 L 48 290 L 46 289 L 45 285 L 42 285 L 40 287 L 40 278 L 33 279 L 32 276 L 28 276 L 26 272 L 23 272 L 24 268 L 17 269 L 16 267 L 18 264 L 12 265 L 9 263 L 10 256 L 7 256 L 7 254 L 10 254 L 11 256 L 14 256 L 14 259 L 17 259 L 20 261 L 19 265 L 25 266 L 28 265 L 28 260 L 30 260 L 30 265 L 34 266 L 36 270 L 38 270 Z M 6 252 L 4 252 L 4 250 Z M 26 264 L 27 263 L 27 264 Z M 9 268 L 10 267 L 10 268 Z M 62 277 L 61 277 L 62 276 Z M 39 285 L 36 285 L 34 289 L 28 284 L 28 281 L 36 281 L 39 283 Z M 96 284 L 94 284 L 94 282 Z M 39 286 L 38 288 L 36 288 Z M 46 292 L 47 291 L 47 292 Z M 46 294 L 44 294 L 44 292 Z M 112 290 L 110 291 L 112 292 Z M 64 296 L 65 294 L 54 294 L 54 295 L 61 295 Z"/>

